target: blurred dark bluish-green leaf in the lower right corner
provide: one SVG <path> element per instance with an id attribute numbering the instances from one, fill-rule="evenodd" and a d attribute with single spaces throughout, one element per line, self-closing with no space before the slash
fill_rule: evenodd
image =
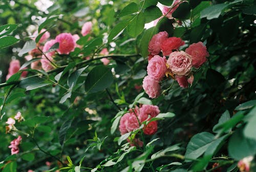
<path id="1" fill-rule="evenodd" d="M 254 156 L 256 154 L 256 140 L 245 138 L 242 129 L 239 129 L 229 139 L 228 154 L 235 160 Z"/>

